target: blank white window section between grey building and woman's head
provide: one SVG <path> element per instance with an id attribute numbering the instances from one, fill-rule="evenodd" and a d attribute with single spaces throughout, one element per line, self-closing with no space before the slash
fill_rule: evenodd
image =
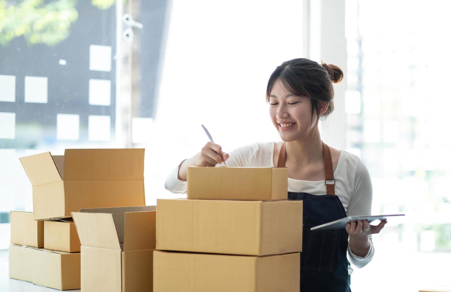
<path id="1" fill-rule="evenodd" d="M 267 80 L 283 61 L 303 55 L 301 27 L 301 1 L 173 2 L 156 119 L 143 134 L 152 155 L 147 204 L 180 197 L 164 182 L 209 141 L 201 124 L 226 152 L 278 139 L 265 101 Z"/>

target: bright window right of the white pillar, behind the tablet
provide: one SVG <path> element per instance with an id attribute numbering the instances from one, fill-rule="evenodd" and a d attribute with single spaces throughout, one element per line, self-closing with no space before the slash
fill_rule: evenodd
<path id="1" fill-rule="evenodd" d="M 449 9 L 346 1 L 348 147 L 371 174 L 373 214 L 406 214 L 374 236 L 374 259 L 352 276 L 357 291 L 449 283 Z"/>

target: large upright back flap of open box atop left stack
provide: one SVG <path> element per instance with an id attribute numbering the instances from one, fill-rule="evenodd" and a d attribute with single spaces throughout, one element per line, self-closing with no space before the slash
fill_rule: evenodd
<path id="1" fill-rule="evenodd" d="M 144 149 L 66 149 L 64 180 L 142 180 Z"/>

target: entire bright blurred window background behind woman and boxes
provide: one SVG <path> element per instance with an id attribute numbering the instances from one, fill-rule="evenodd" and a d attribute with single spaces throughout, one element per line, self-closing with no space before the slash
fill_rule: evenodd
<path id="1" fill-rule="evenodd" d="M 358 155 L 373 236 L 353 291 L 450 284 L 451 2 L 0 0 L 0 249 L 9 211 L 32 211 L 19 157 L 66 148 L 146 149 L 147 205 L 180 197 L 167 175 L 208 141 L 279 141 L 265 102 L 283 61 L 340 66 L 323 140 Z M 446 134 L 448 132 L 448 134 Z"/>

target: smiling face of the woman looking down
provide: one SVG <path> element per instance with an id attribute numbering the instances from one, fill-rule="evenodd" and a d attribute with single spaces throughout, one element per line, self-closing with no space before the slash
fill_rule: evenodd
<path id="1" fill-rule="evenodd" d="M 271 87 L 269 114 L 283 141 L 304 139 L 314 125 L 309 97 L 296 96 L 277 79 Z M 316 120 L 316 111 L 313 113 Z"/>

